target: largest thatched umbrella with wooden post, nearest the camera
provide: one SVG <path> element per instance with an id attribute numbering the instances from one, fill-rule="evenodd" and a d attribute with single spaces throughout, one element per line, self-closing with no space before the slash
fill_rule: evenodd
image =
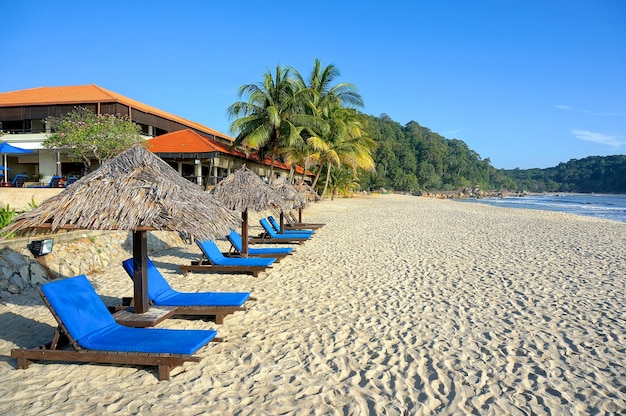
<path id="1" fill-rule="evenodd" d="M 238 224 L 234 212 L 137 145 L 20 215 L 3 231 L 132 231 L 135 312 L 143 313 L 148 310 L 148 231 L 179 231 L 208 239 L 223 237 Z"/>

